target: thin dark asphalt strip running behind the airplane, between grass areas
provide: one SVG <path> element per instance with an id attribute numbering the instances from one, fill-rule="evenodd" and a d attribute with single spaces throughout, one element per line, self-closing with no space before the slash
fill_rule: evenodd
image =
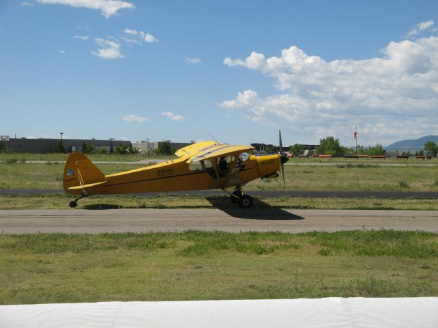
<path id="1" fill-rule="evenodd" d="M 420 197 L 420 198 L 438 198 L 438 191 L 291 191 L 291 190 L 248 190 L 245 191 L 248 195 L 261 197 L 376 197 L 376 198 L 391 198 L 391 197 Z M 3 195 L 46 195 L 46 194 L 62 194 L 62 189 L 0 189 L 0 196 Z M 153 197 L 164 195 L 166 193 L 136 193 L 133 195 L 142 197 Z M 197 191 L 172 191 L 168 195 L 228 195 L 222 190 L 197 190 Z M 114 196 L 114 195 L 101 195 Z"/>

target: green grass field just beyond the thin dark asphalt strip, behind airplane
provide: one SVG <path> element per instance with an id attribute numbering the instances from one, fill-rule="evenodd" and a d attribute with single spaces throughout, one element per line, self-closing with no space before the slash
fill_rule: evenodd
<path id="1" fill-rule="evenodd" d="M 305 160 L 302 160 L 305 161 Z M 135 169 L 137 164 L 99 164 L 105 174 Z M 62 189 L 60 163 L 0 163 L 0 189 Z M 288 190 L 438 191 L 438 167 L 384 165 L 285 165 Z M 283 189 L 283 180 L 254 180 L 246 190 Z"/>

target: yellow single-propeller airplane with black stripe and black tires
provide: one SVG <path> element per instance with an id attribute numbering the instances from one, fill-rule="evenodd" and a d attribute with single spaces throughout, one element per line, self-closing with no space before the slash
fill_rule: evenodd
<path id="1" fill-rule="evenodd" d="M 116 174 L 103 174 L 81 152 L 68 156 L 64 166 L 64 191 L 79 196 L 119 193 L 155 193 L 233 188 L 231 202 L 242 208 L 253 206 L 253 198 L 242 192 L 244 184 L 257 178 L 276 178 L 281 167 L 284 182 L 284 163 L 280 132 L 280 154 L 254 155 L 253 146 L 229 145 L 217 141 L 201 141 L 175 152 L 177 159 L 131 169 Z"/>

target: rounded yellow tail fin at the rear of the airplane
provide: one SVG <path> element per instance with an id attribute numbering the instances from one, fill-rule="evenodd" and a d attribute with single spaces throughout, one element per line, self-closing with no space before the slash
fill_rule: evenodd
<path id="1" fill-rule="evenodd" d="M 105 183 L 105 174 L 81 152 L 72 152 L 68 156 L 62 177 L 66 193 L 77 194 L 80 189 Z"/>

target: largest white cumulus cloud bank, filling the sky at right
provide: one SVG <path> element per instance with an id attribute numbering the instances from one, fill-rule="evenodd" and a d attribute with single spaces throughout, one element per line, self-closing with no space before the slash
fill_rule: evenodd
<path id="1" fill-rule="evenodd" d="M 430 24 L 427 26 L 431 26 Z M 426 27 L 423 27 L 426 28 Z M 274 78 L 278 94 L 238 92 L 220 105 L 246 118 L 285 126 L 300 142 L 335 135 L 352 143 L 352 130 L 370 144 L 438 131 L 438 38 L 390 42 L 380 57 L 325 61 L 296 46 L 279 57 L 250 53 L 224 64 Z"/>

